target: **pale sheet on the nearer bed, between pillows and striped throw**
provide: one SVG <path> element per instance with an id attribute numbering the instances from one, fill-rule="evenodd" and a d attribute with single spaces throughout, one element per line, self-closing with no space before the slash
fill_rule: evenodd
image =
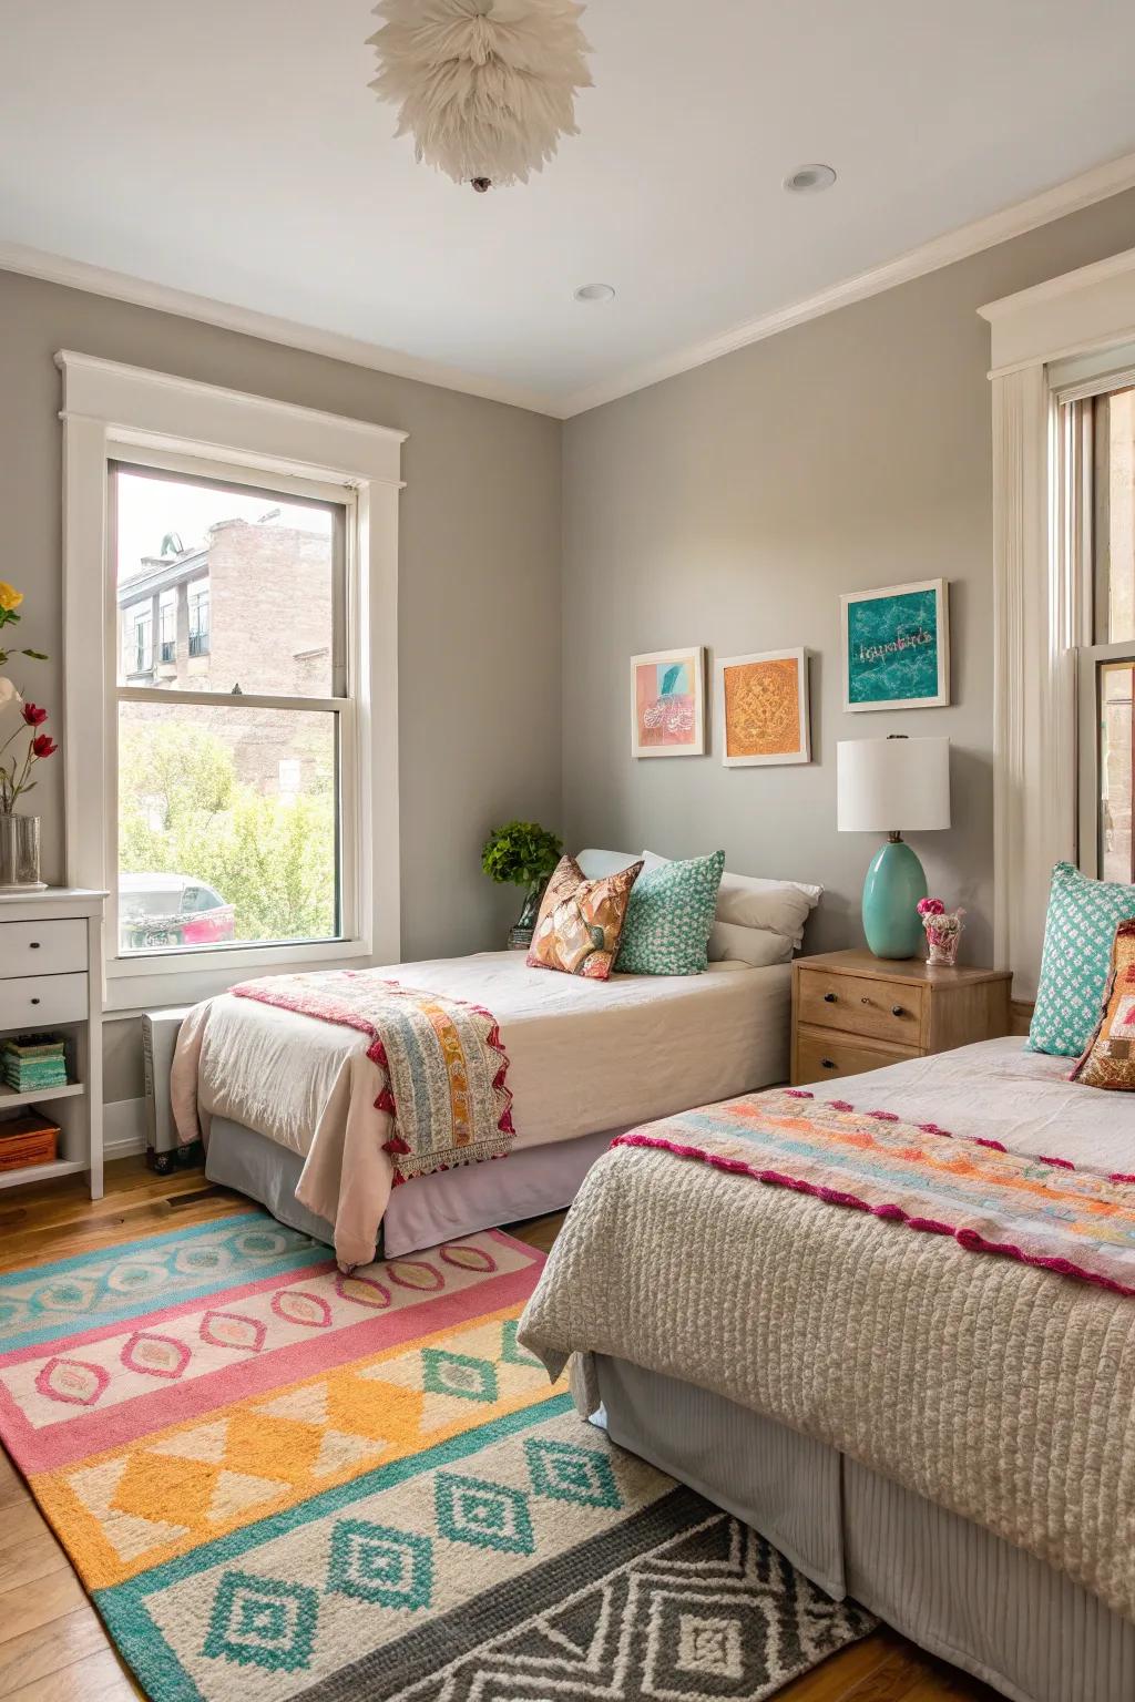
<path id="1" fill-rule="evenodd" d="M 1135 1173 L 1135 1094 L 1069 1081 L 1074 1062 L 1026 1052 L 1024 1040 L 1007 1037 L 810 1088 L 817 1099 L 1001 1140 L 1029 1157 Z"/>

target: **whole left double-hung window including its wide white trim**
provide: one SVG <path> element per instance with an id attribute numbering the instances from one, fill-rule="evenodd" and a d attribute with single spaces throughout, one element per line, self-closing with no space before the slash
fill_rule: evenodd
<path id="1" fill-rule="evenodd" d="M 66 875 L 106 1001 L 398 960 L 403 432 L 63 371 Z"/>

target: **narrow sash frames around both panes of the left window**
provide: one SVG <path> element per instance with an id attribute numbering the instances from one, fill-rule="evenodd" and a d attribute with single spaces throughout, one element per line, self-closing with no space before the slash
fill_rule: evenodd
<path id="1" fill-rule="evenodd" d="M 340 950 L 345 943 L 357 940 L 362 933 L 361 914 L 361 871 L 349 848 L 359 842 L 361 832 L 361 798 L 359 778 L 359 720 L 356 710 L 356 686 L 349 657 L 357 645 L 351 640 L 349 620 L 352 611 L 361 608 L 357 591 L 359 546 L 357 546 L 357 504 L 356 494 L 345 485 L 323 485 L 317 480 L 291 478 L 274 475 L 257 466 L 199 461 L 196 456 L 163 454 L 145 451 L 134 446 L 107 446 L 106 480 L 107 480 L 107 599 L 117 603 L 117 471 L 148 475 L 153 478 L 174 478 L 180 483 L 201 483 L 213 490 L 237 490 L 247 494 L 254 490 L 265 497 L 282 497 L 288 502 L 310 502 L 313 507 L 330 507 L 332 511 L 332 686 L 330 698 L 291 696 L 286 693 L 242 693 L 233 700 L 230 693 L 167 689 L 162 686 L 114 684 L 107 694 L 107 773 L 112 778 L 114 807 L 106 819 L 106 866 L 111 873 L 106 929 L 107 929 L 107 972 L 116 977 L 143 977 L 170 974 L 209 963 L 265 963 L 274 958 L 305 958 L 311 953 Z M 209 654 L 209 579 L 204 575 L 187 584 L 187 620 L 189 620 L 189 654 Z M 196 594 L 194 594 L 196 592 Z M 153 667 L 153 609 L 146 608 L 143 616 L 150 626 L 150 660 L 141 672 Z M 136 640 L 134 640 L 136 642 Z M 196 643 L 196 648 L 194 648 Z M 111 674 L 116 679 L 116 674 Z M 119 757 L 117 730 L 121 703 L 158 703 L 223 708 L 264 708 L 286 710 L 296 713 L 330 713 L 335 725 L 335 917 L 337 933 L 318 940 L 240 940 L 216 945 L 163 946 L 153 951 L 121 951 L 119 934 L 119 846 L 117 846 L 117 800 L 119 800 Z"/>

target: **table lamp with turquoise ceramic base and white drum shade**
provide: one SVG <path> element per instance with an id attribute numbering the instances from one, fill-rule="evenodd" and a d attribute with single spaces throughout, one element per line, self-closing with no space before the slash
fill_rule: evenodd
<path id="1" fill-rule="evenodd" d="M 926 873 L 898 831 L 950 827 L 950 740 L 841 739 L 836 745 L 841 834 L 887 834 L 863 882 L 863 933 L 875 957 L 915 957 Z"/>

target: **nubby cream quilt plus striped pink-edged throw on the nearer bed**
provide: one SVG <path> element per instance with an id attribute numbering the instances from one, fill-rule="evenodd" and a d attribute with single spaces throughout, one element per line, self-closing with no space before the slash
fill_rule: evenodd
<path id="1" fill-rule="evenodd" d="M 776 1418 L 1135 1619 L 1133 1234 L 1130 1181 L 774 1091 L 619 1137 L 521 1341 L 587 1408 L 604 1353 Z"/>

